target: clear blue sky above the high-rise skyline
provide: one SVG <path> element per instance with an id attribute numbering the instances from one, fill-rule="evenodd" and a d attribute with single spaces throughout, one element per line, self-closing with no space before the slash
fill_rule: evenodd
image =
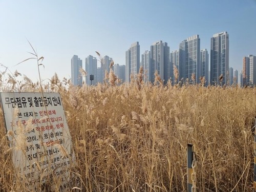
<path id="1" fill-rule="evenodd" d="M 163 40 L 170 51 L 199 34 L 209 52 L 213 34 L 229 34 L 229 67 L 242 70 L 242 58 L 256 55 L 256 0 L 0 0 L 0 63 L 38 79 L 27 39 L 44 56 L 43 79 L 56 72 L 71 77 L 71 57 L 108 55 L 125 65 L 125 51 L 139 41 L 140 53 Z M 26 39 L 27 38 L 27 39 Z M 3 68 L 0 68 L 3 71 Z"/>

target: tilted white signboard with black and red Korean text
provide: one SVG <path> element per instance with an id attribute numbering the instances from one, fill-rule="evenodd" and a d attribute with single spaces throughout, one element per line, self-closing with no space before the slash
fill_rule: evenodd
<path id="1" fill-rule="evenodd" d="M 68 188 L 72 143 L 60 95 L 0 93 L 0 99 L 20 182 L 36 191 L 47 183 Z"/>

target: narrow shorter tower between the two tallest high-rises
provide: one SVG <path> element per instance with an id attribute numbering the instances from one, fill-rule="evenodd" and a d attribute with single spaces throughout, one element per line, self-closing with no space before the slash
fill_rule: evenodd
<path id="1" fill-rule="evenodd" d="M 208 86 L 209 82 L 209 54 L 207 49 L 202 49 L 200 52 L 200 77 L 204 77 Z"/>

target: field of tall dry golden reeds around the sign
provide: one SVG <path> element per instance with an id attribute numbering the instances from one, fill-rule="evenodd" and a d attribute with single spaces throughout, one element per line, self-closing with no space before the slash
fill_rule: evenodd
<path id="1" fill-rule="evenodd" d="M 111 75 L 111 73 L 110 73 Z M 256 89 L 109 84 L 69 86 L 55 74 L 73 139 L 81 191 L 186 191 L 186 146 L 198 191 L 252 191 Z M 38 91 L 1 79 L 2 91 Z M 33 87 L 32 87 L 33 85 Z M 40 88 L 47 91 L 48 88 Z M 20 191 L 0 115 L 0 191 Z M 77 189 L 79 190 L 79 189 Z M 73 189 L 74 191 L 74 189 Z"/>

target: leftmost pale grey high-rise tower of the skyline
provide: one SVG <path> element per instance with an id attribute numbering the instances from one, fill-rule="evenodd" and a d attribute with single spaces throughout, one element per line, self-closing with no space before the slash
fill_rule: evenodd
<path id="1" fill-rule="evenodd" d="M 82 60 L 77 55 L 74 55 L 71 58 L 71 81 L 74 86 L 82 86 L 80 68 L 82 68 Z"/>

